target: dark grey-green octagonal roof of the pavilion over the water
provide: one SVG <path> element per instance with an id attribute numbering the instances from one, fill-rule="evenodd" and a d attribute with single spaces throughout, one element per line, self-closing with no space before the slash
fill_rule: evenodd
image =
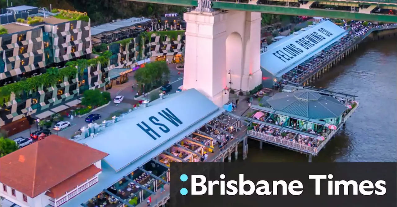
<path id="1" fill-rule="evenodd" d="M 338 118 L 346 110 L 346 106 L 334 97 L 309 90 L 276 93 L 264 97 L 260 103 L 278 112 L 314 120 Z"/>

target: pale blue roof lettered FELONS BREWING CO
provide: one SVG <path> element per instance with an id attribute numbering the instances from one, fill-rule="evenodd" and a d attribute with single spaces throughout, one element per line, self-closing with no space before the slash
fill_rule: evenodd
<path id="1" fill-rule="evenodd" d="M 274 76 L 281 77 L 346 34 L 346 30 L 331 21 L 303 28 L 270 44 L 267 51 L 260 55 L 260 66 Z"/>

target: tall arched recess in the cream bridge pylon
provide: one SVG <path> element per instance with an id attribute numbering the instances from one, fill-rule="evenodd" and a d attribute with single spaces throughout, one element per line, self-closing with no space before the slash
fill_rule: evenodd
<path id="1" fill-rule="evenodd" d="M 243 38 L 238 32 L 231 32 L 226 38 L 225 45 L 226 85 L 232 89 L 239 90 L 243 72 Z"/>

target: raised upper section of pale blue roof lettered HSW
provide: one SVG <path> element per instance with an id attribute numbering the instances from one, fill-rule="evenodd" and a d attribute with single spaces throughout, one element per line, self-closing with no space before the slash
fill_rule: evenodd
<path id="1" fill-rule="evenodd" d="M 115 171 L 119 171 L 145 154 L 169 148 L 183 139 L 185 135 L 179 136 L 181 132 L 214 112 L 222 113 L 223 110 L 197 90 L 189 89 L 152 101 L 148 107 L 126 114 L 121 122 L 107 128 L 94 139 L 79 142 L 110 154 L 104 160 Z M 158 123 L 164 124 L 165 128 Z M 151 158 L 154 156 L 156 154 L 152 154 Z"/>

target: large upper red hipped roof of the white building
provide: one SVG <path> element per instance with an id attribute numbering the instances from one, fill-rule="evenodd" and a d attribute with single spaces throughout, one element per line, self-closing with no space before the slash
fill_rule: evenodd
<path id="1" fill-rule="evenodd" d="M 0 182 L 34 198 L 86 169 L 107 153 L 57 135 L 0 158 Z"/>

